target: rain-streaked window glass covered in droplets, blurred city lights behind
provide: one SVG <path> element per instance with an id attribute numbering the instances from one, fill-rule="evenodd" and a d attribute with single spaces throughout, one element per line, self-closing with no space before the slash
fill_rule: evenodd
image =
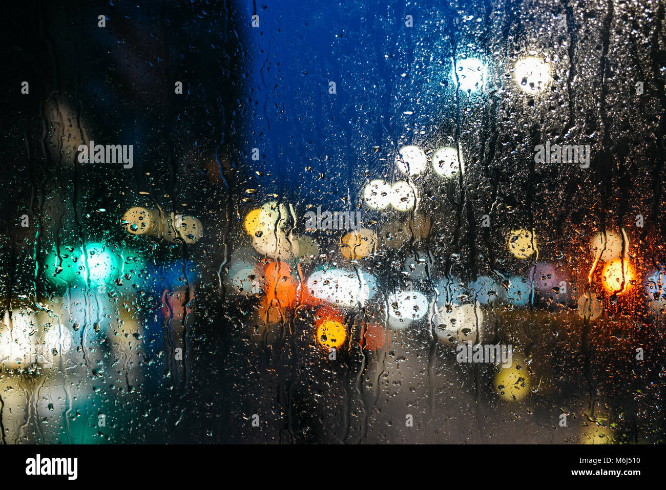
<path id="1" fill-rule="evenodd" d="M 665 5 L 380 4 L 8 7 L 3 443 L 664 442 Z"/>

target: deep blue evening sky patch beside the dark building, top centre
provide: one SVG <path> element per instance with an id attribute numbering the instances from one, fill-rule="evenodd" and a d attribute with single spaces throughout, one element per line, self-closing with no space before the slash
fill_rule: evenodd
<path id="1" fill-rule="evenodd" d="M 253 8 L 248 5 L 248 18 Z M 264 173 L 258 183 L 265 192 L 326 202 L 316 197 L 324 188 L 333 199 L 354 202 L 368 180 L 390 180 L 400 146 L 430 151 L 434 139 L 454 136 L 452 16 L 441 2 L 348 2 L 327 9 L 320 2 L 280 1 L 265 9 L 257 4 L 256 13 L 260 27 L 248 22 L 244 33 L 252 99 L 243 109 L 246 158 L 251 161 L 251 148 L 260 149 L 262 159 L 251 166 Z M 406 27 L 406 15 L 414 27 Z M 457 56 L 474 54 L 461 36 L 458 31 Z M 330 81 L 335 95 L 328 93 Z"/>

